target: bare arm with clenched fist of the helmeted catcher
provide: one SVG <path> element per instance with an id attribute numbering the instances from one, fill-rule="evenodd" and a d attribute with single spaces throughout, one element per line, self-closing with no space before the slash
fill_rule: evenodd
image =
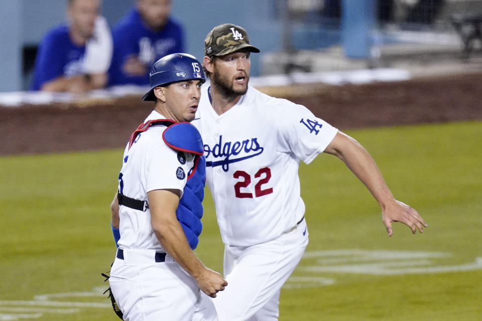
<path id="1" fill-rule="evenodd" d="M 176 217 L 179 205 L 178 190 L 155 190 L 147 193 L 151 224 L 162 247 L 211 297 L 224 290 L 227 282 L 221 275 L 202 264 L 189 247 L 184 231 Z"/>

